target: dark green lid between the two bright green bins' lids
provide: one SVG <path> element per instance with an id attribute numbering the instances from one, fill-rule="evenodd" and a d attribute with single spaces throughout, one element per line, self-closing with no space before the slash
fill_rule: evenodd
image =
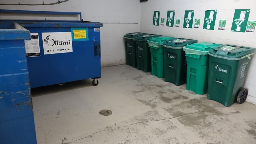
<path id="1" fill-rule="evenodd" d="M 187 44 L 193 44 L 196 42 L 197 42 L 197 40 L 193 40 L 193 39 L 174 38 L 174 39 L 170 39 L 170 40 L 167 40 L 166 42 L 164 42 L 163 46 L 167 47 L 167 48 L 179 47 L 182 49 Z"/>

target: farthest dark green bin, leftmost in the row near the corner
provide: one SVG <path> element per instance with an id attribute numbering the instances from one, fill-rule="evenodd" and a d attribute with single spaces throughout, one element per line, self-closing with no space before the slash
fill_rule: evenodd
<path id="1" fill-rule="evenodd" d="M 136 48 L 135 48 L 134 38 L 140 34 L 143 34 L 143 33 L 133 32 L 133 33 L 127 33 L 126 35 L 124 35 L 126 64 L 134 68 L 137 67 Z"/>

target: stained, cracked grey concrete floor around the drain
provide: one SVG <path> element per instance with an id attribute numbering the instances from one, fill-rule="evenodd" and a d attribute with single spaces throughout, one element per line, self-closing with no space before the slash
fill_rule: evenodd
<path id="1" fill-rule="evenodd" d="M 127 65 L 102 68 L 98 86 L 82 80 L 32 96 L 38 144 L 256 143 L 256 105 L 225 107 Z"/>

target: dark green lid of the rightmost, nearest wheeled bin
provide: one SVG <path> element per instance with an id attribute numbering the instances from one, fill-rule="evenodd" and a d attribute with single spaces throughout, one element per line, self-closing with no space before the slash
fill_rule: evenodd
<path id="1" fill-rule="evenodd" d="M 221 45 L 209 51 L 209 55 L 228 60 L 240 60 L 255 54 L 255 48 L 235 45 Z"/>

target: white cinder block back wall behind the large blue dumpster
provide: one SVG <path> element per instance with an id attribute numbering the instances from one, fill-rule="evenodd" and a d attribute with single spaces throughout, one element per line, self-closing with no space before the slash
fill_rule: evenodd
<path id="1" fill-rule="evenodd" d="M 0 0 L 0 3 L 38 4 L 35 0 Z M 53 3 L 57 0 L 44 0 Z M 101 66 L 125 63 L 123 36 L 126 33 L 138 32 L 140 22 L 139 0 L 70 0 L 52 6 L 4 6 L 6 10 L 42 10 L 82 12 L 84 21 L 102 22 L 101 28 Z M 32 14 L 0 14 L 0 19 L 44 19 L 46 16 Z M 47 20 L 80 20 L 78 16 L 47 15 Z"/>

